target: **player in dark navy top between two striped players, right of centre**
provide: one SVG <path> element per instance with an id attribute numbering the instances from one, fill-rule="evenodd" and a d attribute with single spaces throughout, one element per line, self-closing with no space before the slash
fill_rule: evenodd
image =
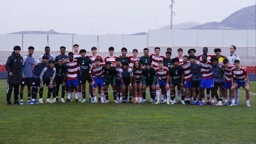
<path id="1" fill-rule="evenodd" d="M 199 61 L 196 61 L 195 58 L 196 58 L 195 55 L 188 56 L 188 59 L 190 61 L 189 68 L 191 69 L 191 72 L 192 72 L 193 102 L 191 102 L 191 105 L 200 104 L 199 102 L 196 101 L 196 98 L 197 98 L 196 89 L 199 91 L 199 93 L 198 93 L 199 98 L 201 98 L 200 84 L 201 84 L 201 79 L 202 79 L 202 73 L 201 73 L 200 63 L 199 63 Z"/>

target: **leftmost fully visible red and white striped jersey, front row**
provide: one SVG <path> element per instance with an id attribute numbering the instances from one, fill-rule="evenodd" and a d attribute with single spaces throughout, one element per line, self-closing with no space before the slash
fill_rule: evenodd
<path id="1" fill-rule="evenodd" d="M 69 61 L 69 59 L 66 59 L 66 67 L 68 70 L 68 74 L 67 74 L 67 79 L 68 80 L 74 80 L 77 78 L 77 73 L 78 73 L 78 60 L 77 59 L 73 59 L 73 61 Z"/>

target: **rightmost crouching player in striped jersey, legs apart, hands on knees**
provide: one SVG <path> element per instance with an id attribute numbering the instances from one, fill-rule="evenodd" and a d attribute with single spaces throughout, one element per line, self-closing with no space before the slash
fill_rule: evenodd
<path id="1" fill-rule="evenodd" d="M 232 103 L 229 106 L 235 106 L 235 90 L 239 89 L 242 86 L 246 92 L 246 105 L 247 107 L 251 107 L 250 105 L 250 93 L 249 93 L 249 77 L 247 75 L 247 71 L 245 67 L 240 65 L 239 60 L 235 60 L 235 67 L 231 69 L 231 97 Z M 236 79 L 234 79 L 236 77 Z"/>

